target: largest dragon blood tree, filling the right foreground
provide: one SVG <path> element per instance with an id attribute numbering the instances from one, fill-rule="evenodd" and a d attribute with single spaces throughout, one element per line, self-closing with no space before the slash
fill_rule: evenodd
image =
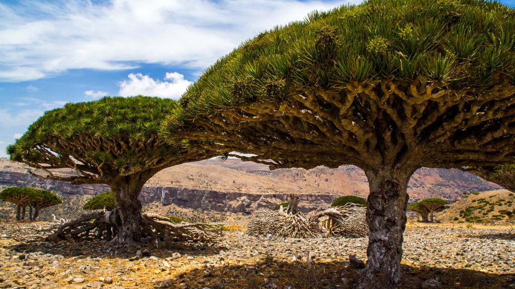
<path id="1" fill-rule="evenodd" d="M 497 2 L 371 0 L 273 28 L 208 68 L 162 134 L 271 168 L 355 165 L 369 180 L 357 288 L 401 272 L 418 168 L 513 164 L 515 11 Z M 407 280 L 408 278 L 406 278 Z"/>

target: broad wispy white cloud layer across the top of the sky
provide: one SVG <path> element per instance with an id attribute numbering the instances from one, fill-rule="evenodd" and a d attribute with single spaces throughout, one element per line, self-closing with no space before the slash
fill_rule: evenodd
<path id="1" fill-rule="evenodd" d="M 138 63 L 203 69 L 260 31 L 341 4 L 333 0 L 0 4 L 0 81 L 34 80 L 67 69 L 127 69 Z"/>

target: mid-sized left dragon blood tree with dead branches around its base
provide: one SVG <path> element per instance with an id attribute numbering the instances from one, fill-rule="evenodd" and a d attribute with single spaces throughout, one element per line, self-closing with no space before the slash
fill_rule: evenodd
<path id="1" fill-rule="evenodd" d="M 142 225 L 138 196 L 147 180 L 164 168 L 210 157 L 182 144 L 169 145 L 158 137 L 161 121 L 174 114 L 176 107 L 174 100 L 143 96 L 68 103 L 46 112 L 7 152 L 11 160 L 39 169 L 31 171 L 37 177 L 74 185 L 109 185 L 116 205 L 115 214 L 105 216 L 106 222 L 117 225 L 112 242 L 136 244 Z M 58 170 L 65 168 L 71 174 Z M 91 218 L 68 226 L 103 216 L 92 212 Z M 145 221 L 146 227 L 150 223 Z M 95 224 L 99 225 L 84 225 L 71 233 L 89 232 Z M 152 234 L 155 229 L 145 231 Z"/>

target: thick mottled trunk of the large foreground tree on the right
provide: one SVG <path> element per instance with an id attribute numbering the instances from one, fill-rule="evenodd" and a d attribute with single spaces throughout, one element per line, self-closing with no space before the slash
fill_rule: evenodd
<path id="1" fill-rule="evenodd" d="M 413 171 L 368 171 L 370 186 L 367 223 L 370 227 L 366 268 L 358 289 L 392 288 L 400 283 L 403 233 L 406 228 L 406 192 Z"/>

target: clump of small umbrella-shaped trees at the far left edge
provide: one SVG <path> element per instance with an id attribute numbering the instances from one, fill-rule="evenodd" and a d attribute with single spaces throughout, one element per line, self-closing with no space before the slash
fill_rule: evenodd
<path id="1" fill-rule="evenodd" d="M 49 191 L 32 188 L 10 187 L 0 192 L 0 200 L 16 204 L 16 221 L 25 219 L 25 210 L 30 209 L 29 220 L 36 221 L 41 209 L 59 205 L 61 199 Z"/>

